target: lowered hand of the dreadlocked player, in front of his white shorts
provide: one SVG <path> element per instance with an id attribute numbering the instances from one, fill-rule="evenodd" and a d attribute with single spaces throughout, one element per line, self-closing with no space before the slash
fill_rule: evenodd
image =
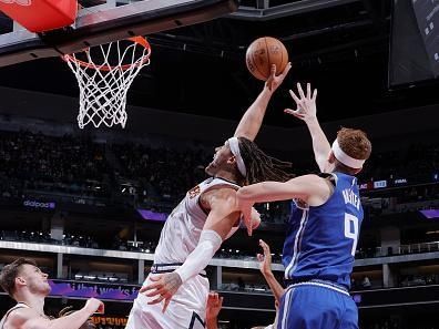
<path id="1" fill-rule="evenodd" d="M 150 291 L 145 294 L 146 297 L 159 296 L 156 299 L 149 301 L 147 304 L 154 305 L 164 300 L 162 311 L 165 312 L 172 297 L 183 284 L 182 278 L 178 276 L 178 274 L 173 271 L 163 275 L 152 276 L 150 279 L 152 284 L 142 287 L 139 292 L 144 294 L 146 291 Z"/>

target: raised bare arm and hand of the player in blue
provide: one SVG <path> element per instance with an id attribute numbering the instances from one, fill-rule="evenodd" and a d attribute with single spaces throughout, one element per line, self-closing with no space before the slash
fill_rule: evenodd
<path id="1" fill-rule="evenodd" d="M 314 156 L 316 158 L 317 165 L 323 173 L 330 172 L 331 164 L 328 162 L 330 144 L 317 120 L 317 89 L 312 91 L 310 84 L 307 83 L 305 95 L 300 83 L 297 83 L 297 91 L 299 96 L 297 96 L 294 91 L 289 91 L 289 94 L 296 102 L 297 109 L 286 109 L 285 113 L 292 114 L 306 123 L 312 135 Z"/>

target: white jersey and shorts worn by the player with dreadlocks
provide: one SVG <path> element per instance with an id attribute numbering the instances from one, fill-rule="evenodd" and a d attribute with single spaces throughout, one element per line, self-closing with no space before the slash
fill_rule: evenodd
<path id="1" fill-rule="evenodd" d="M 163 226 L 154 255 L 156 267 L 151 268 L 144 286 L 152 284 L 152 276 L 177 268 L 195 249 L 207 218 L 200 205 L 200 196 L 204 192 L 222 187 L 239 188 L 222 178 L 208 178 L 187 192 Z M 165 312 L 162 311 L 163 301 L 150 305 L 149 301 L 154 298 L 139 294 L 125 329 L 203 329 L 208 289 L 208 280 L 203 274 L 190 278 L 172 297 Z"/>

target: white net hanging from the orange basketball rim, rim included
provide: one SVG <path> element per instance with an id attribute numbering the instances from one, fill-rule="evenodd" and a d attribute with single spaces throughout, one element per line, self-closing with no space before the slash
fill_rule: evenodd
<path id="1" fill-rule="evenodd" d="M 64 55 L 80 89 L 80 128 L 126 124 L 126 93 L 143 66 L 150 64 L 151 48 L 141 37 L 101 44 Z"/>

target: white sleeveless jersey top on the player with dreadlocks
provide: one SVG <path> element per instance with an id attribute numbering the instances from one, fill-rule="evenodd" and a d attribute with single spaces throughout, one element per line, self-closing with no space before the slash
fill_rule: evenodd
<path id="1" fill-rule="evenodd" d="M 195 249 L 207 213 L 200 205 L 200 196 L 221 187 L 238 189 L 239 185 L 223 178 L 207 178 L 186 193 L 186 196 L 167 217 L 155 249 L 154 264 L 184 263 Z"/>

